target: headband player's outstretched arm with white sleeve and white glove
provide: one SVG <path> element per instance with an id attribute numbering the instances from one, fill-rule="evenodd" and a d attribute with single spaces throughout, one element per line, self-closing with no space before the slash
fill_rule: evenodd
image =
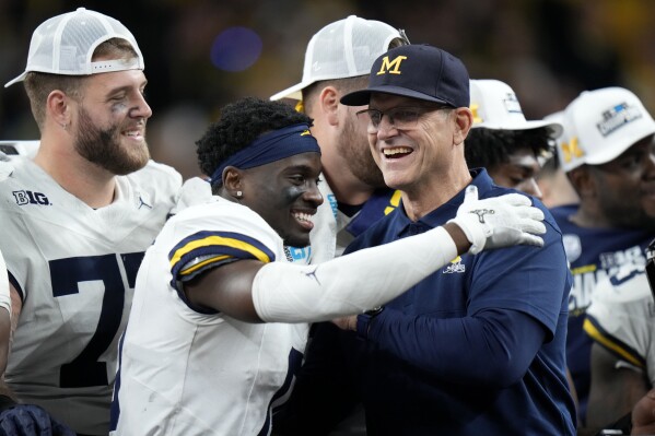
<path id="1" fill-rule="evenodd" d="M 477 200 L 476 192 L 451 223 L 421 235 L 319 266 L 238 260 L 185 283 L 184 293 L 192 305 L 250 322 L 320 321 L 362 313 L 395 298 L 460 254 L 542 245 L 528 232 L 546 232 L 543 214 L 529 203 L 519 195 Z M 481 210 L 491 213 L 480 219 Z"/>

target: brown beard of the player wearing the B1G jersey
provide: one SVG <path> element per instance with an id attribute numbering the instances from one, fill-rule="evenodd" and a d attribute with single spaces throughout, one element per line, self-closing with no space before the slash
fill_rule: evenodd
<path id="1" fill-rule="evenodd" d="M 133 173 L 148 164 L 150 152 L 147 144 L 128 151 L 121 148 L 120 126 L 106 130 L 97 128 L 83 107 L 80 108 L 79 120 L 74 146 L 86 161 L 117 176 Z"/>

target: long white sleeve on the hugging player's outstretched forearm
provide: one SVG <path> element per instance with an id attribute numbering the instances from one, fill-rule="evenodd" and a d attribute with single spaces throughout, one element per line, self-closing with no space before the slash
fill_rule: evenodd
<path id="1" fill-rule="evenodd" d="M 315 322 L 361 314 L 397 297 L 457 257 L 436 227 L 317 266 L 272 262 L 253 282 L 255 309 L 267 322 Z"/>

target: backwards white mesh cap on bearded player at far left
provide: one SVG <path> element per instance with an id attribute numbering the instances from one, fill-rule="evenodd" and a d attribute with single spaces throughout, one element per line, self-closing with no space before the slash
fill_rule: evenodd
<path id="1" fill-rule="evenodd" d="M 137 58 L 92 62 L 95 48 L 107 39 L 126 39 Z M 118 20 L 79 8 L 43 22 L 32 34 L 25 71 L 8 82 L 22 82 L 30 71 L 61 75 L 89 75 L 109 71 L 143 70 L 143 56 L 137 40 Z"/>

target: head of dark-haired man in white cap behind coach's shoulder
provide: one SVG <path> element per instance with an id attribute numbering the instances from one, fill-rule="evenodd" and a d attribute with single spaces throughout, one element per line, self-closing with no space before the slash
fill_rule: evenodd
<path id="1" fill-rule="evenodd" d="M 535 177 L 562 126 L 527 121 L 514 90 L 499 80 L 471 80 L 470 93 L 473 126 L 464 148 L 468 166 L 484 167 L 496 185 L 541 199 Z"/>

